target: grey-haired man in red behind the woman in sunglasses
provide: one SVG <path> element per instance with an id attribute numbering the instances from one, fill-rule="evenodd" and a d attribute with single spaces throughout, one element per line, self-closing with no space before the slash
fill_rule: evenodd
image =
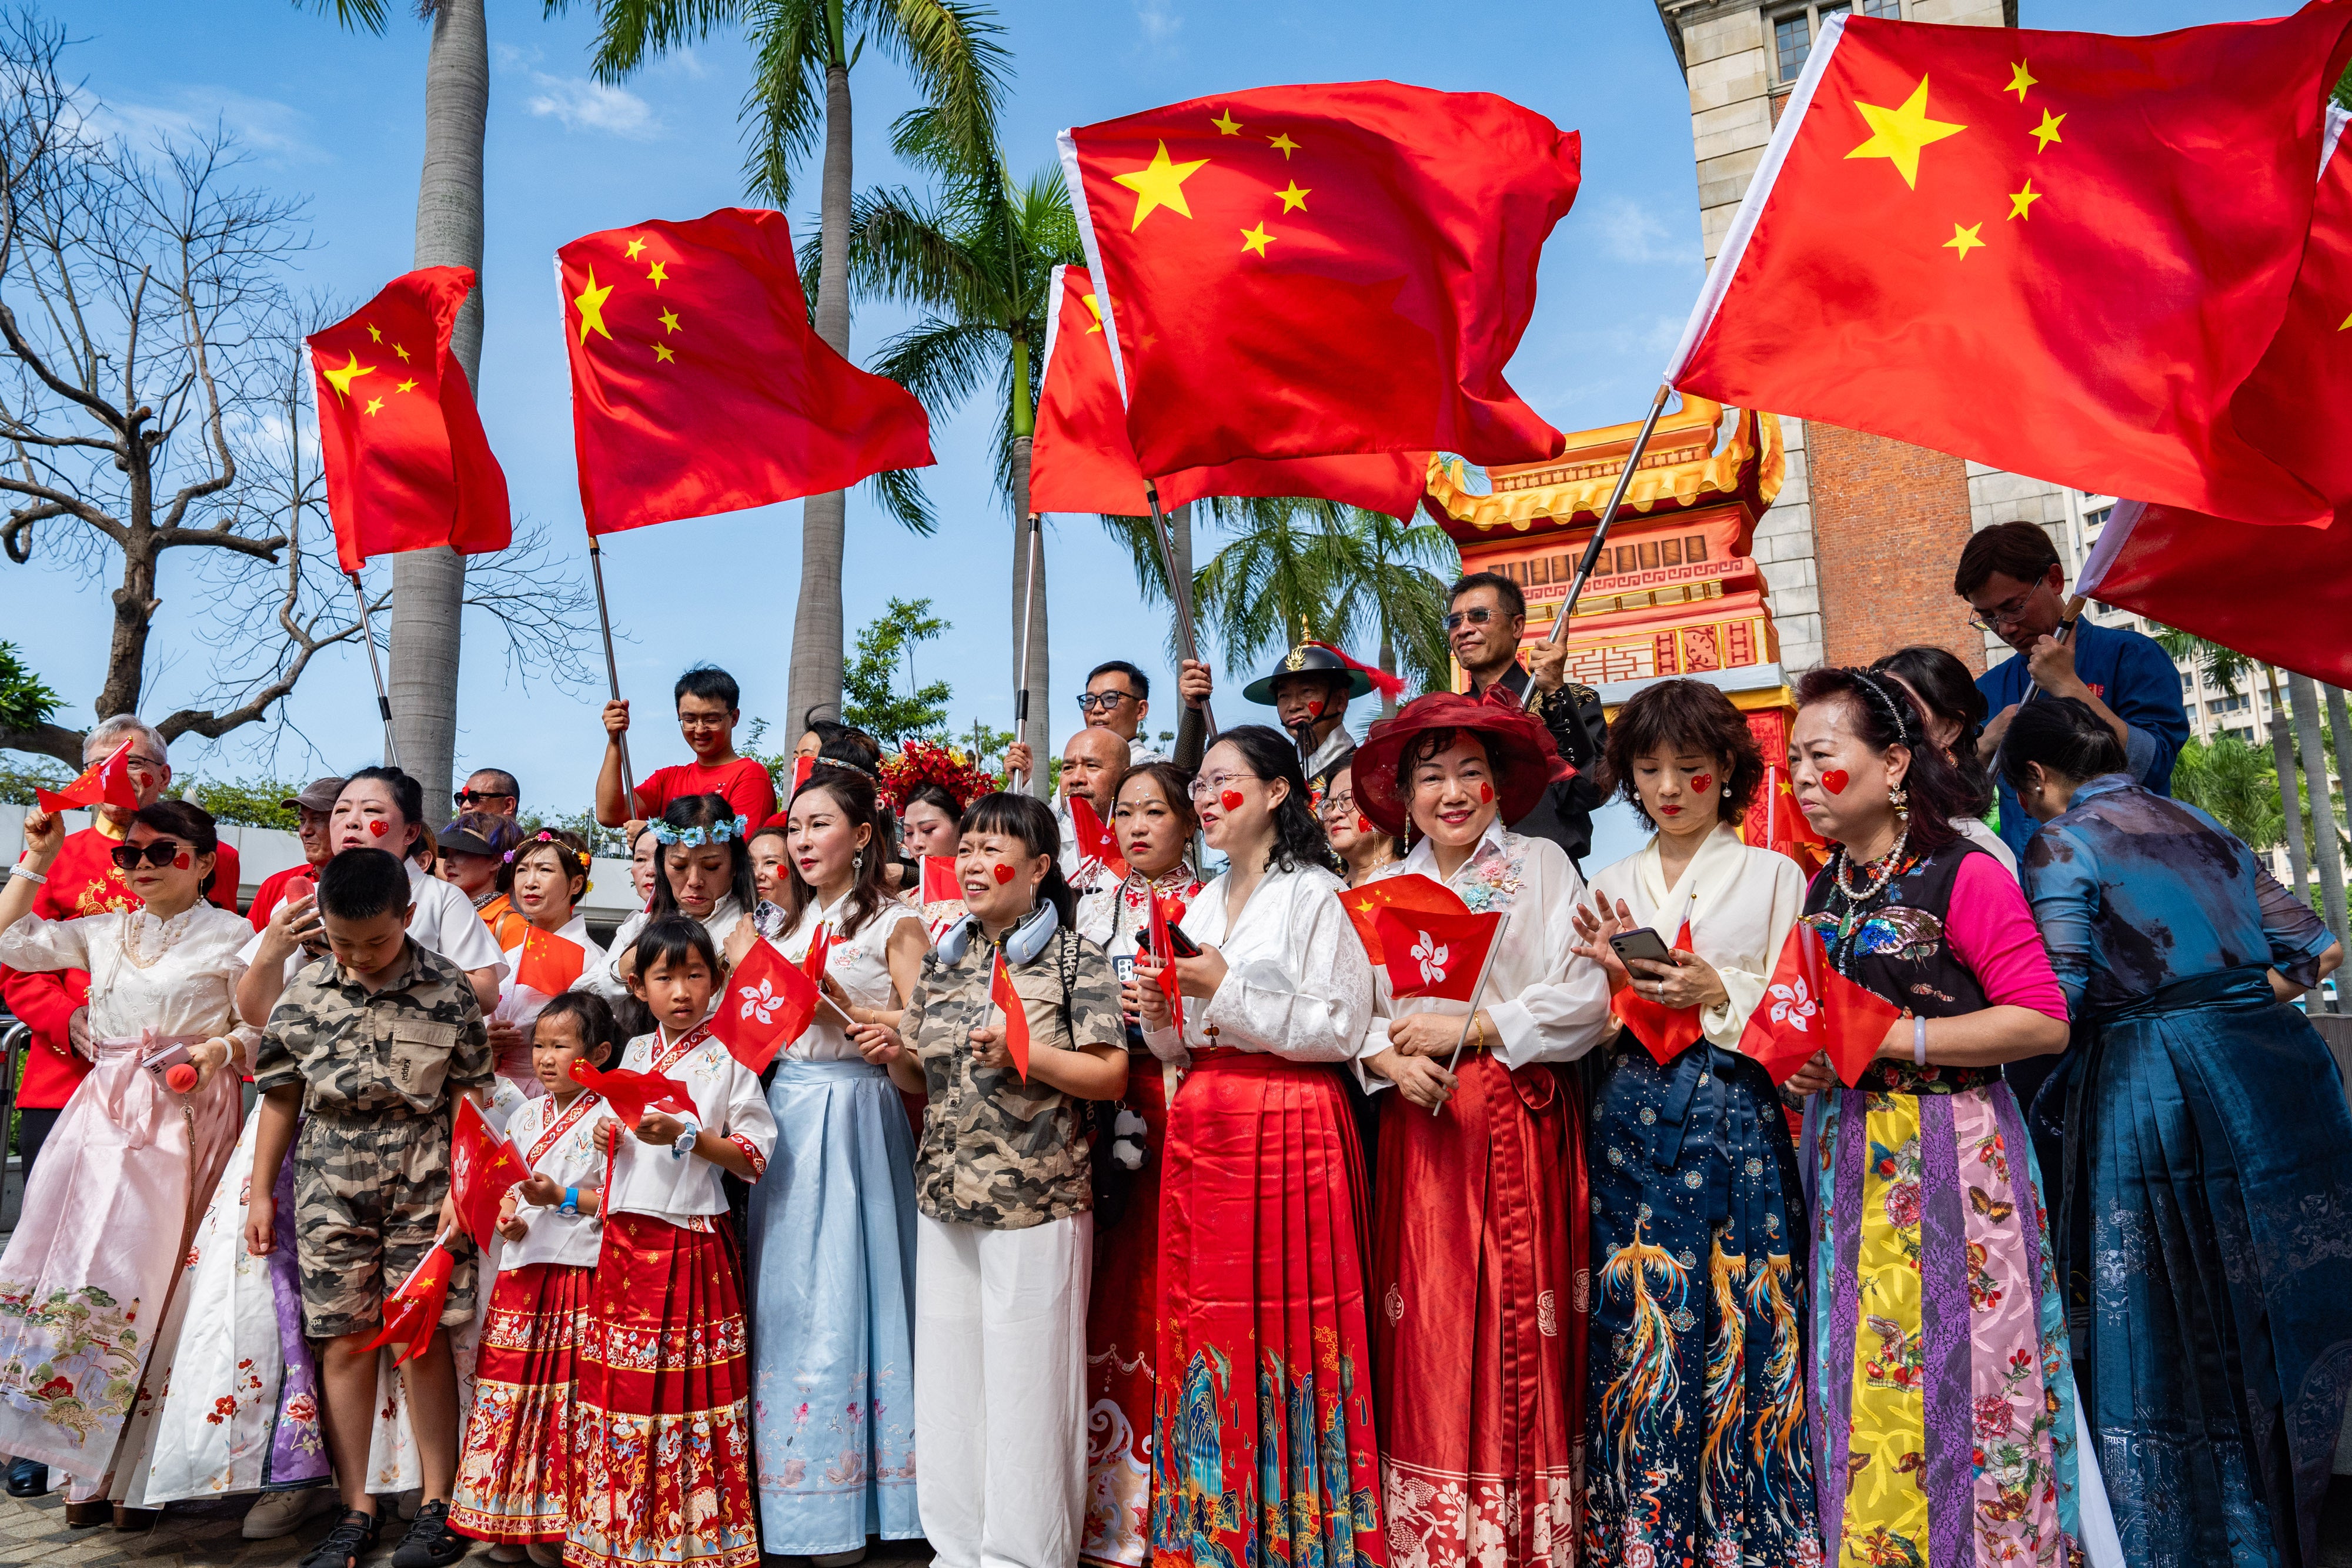
<path id="1" fill-rule="evenodd" d="M 82 738 L 82 766 L 106 759 L 125 741 L 132 743 L 125 766 L 139 792 L 139 804 L 153 804 L 172 783 L 172 755 L 165 738 L 132 715 L 103 719 Z M 94 827 L 66 835 L 66 846 L 49 865 L 49 879 L 33 898 L 33 914 L 75 919 L 139 907 L 139 896 L 132 893 L 111 860 L 115 844 L 132 830 L 132 813 L 122 806 L 96 806 L 92 823 Z M 230 912 L 238 907 L 238 851 L 230 849 L 228 839 L 221 839 L 219 870 L 212 875 L 207 898 Z M 7 997 L 7 1011 L 33 1025 L 33 1048 L 24 1063 L 24 1084 L 16 1088 L 16 1110 L 21 1112 L 16 1152 L 24 1154 L 24 1180 L 33 1180 L 33 1161 L 40 1159 L 40 1145 L 47 1143 L 49 1128 L 56 1126 L 56 1112 L 66 1107 L 89 1072 L 89 1056 L 85 1056 L 89 1048 L 89 971 L 16 973 L 0 969 L 0 997 Z"/>

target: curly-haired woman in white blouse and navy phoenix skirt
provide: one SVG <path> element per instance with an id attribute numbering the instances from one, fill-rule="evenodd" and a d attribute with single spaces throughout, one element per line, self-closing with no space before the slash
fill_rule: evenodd
<path id="1" fill-rule="evenodd" d="M 1764 752 L 1722 691 L 1642 689 L 1606 778 L 1656 830 L 1592 877 L 1578 952 L 1623 1025 L 1592 1103 L 1585 1561 L 1818 1563 L 1804 1422 L 1804 1185 L 1740 1056 L 1804 872 L 1740 842 Z M 1672 961 L 1621 959 L 1656 933 Z"/>

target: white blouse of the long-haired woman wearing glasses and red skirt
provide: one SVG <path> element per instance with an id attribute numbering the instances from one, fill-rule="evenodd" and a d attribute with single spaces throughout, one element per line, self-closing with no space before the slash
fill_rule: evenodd
<path id="1" fill-rule="evenodd" d="M 1371 964 L 1338 903 L 1348 884 L 1319 865 L 1272 870 L 1228 924 L 1228 877 L 1183 917 L 1185 936 L 1225 959 L 1225 983 L 1209 1001 L 1183 999 L 1183 1039 L 1174 1027 L 1145 1032 L 1152 1056 L 1183 1063 L 1216 1044 L 1294 1063 L 1352 1060 L 1371 1020 Z"/>

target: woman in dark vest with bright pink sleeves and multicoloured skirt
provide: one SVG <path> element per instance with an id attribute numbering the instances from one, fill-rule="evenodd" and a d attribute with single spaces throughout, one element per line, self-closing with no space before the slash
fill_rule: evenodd
<path id="1" fill-rule="evenodd" d="M 2065 1048 L 2025 893 L 1959 835 L 1962 783 L 1898 682 L 1813 670 L 1790 733 L 1797 806 L 1837 844 L 1804 922 L 1884 1001 L 1792 1084 L 1813 1182 L 1809 1406 L 1837 1561 L 2067 1561 L 2105 1521 L 2082 1441 L 2042 1178 L 2002 1063 Z M 1776 999 L 1778 992 L 1773 992 Z M 1898 1013 L 1900 1009 L 1900 1013 Z M 2112 1526 L 2100 1530 L 2112 1540 Z"/>

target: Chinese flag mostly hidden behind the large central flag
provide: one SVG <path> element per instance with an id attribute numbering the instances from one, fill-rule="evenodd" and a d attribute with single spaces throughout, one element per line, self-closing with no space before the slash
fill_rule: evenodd
<path id="1" fill-rule="evenodd" d="M 1183 468 L 1160 477 L 1160 505 L 1204 496 L 1319 496 L 1390 517 L 1411 517 L 1428 491 L 1428 454 L 1369 451 L 1338 458 L 1287 458 Z M 1110 371 L 1103 301 L 1082 266 L 1054 268 L 1054 303 L 1044 331 L 1044 381 L 1037 388 L 1037 437 L 1030 444 L 1033 512 L 1145 510 L 1143 468 L 1127 437 L 1127 404 Z"/>

